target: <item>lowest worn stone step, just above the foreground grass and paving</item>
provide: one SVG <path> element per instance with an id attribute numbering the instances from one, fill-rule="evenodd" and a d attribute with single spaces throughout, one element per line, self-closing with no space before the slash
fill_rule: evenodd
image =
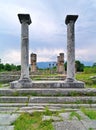
<path id="1" fill-rule="evenodd" d="M 49 110 L 77 110 L 82 107 L 96 109 L 96 104 L 49 104 L 49 103 L 30 103 L 28 106 L 15 106 L 16 104 L 10 106 L 0 107 L 0 112 L 33 112 L 33 111 L 43 111 L 46 110 L 46 106 Z"/>

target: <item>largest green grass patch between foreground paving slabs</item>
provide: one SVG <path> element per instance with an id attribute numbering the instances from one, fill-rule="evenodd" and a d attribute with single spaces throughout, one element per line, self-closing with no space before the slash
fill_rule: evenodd
<path id="1" fill-rule="evenodd" d="M 14 130 L 54 130 L 52 120 L 42 121 L 42 112 L 23 113 L 14 122 Z"/>

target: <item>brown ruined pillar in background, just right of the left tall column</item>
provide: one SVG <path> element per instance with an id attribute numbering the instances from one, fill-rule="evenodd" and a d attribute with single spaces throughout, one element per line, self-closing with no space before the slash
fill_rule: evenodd
<path id="1" fill-rule="evenodd" d="M 36 54 L 31 53 L 30 62 L 31 62 L 31 72 L 36 72 L 37 71 L 37 55 Z"/>

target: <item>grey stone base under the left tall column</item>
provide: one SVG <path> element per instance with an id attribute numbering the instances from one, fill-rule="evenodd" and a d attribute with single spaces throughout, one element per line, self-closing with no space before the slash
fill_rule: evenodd
<path id="1" fill-rule="evenodd" d="M 30 78 L 19 79 L 10 83 L 10 88 L 30 88 L 32 87 L 32 80 Z"/>

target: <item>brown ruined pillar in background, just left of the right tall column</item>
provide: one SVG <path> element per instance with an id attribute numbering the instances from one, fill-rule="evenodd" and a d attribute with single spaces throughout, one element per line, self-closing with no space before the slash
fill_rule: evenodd
<path id="1" fill-rule="evenodd" d="M 64 69 L 64 53 L 60 53 L 59 56 L 57 56 L 57 72 L 60 74 L 65 73 Z"/>

